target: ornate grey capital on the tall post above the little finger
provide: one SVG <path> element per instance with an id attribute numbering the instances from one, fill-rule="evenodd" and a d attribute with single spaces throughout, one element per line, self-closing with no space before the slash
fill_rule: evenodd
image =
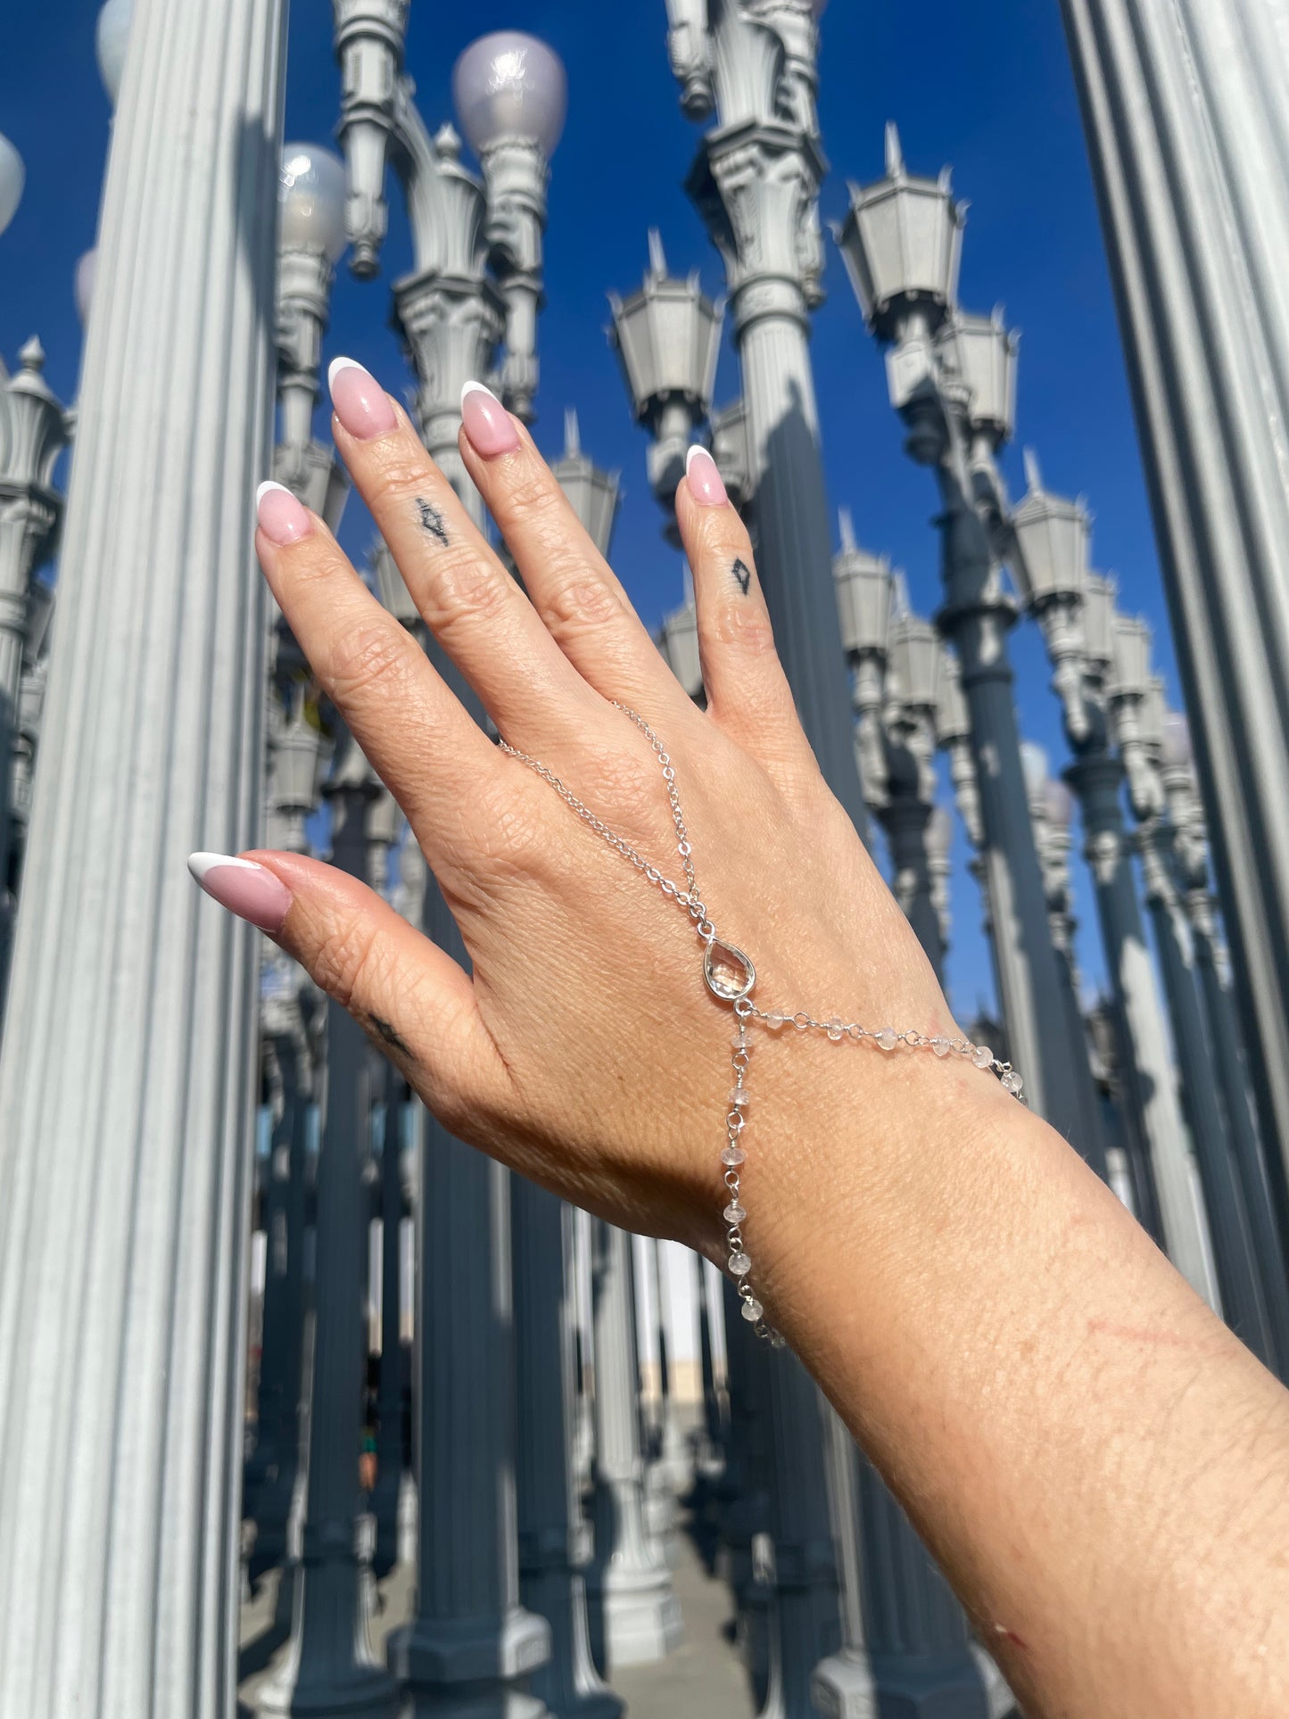
<path id="1" fill-rule="evenodd" d="M 823 303 L 827 170 L 815 136 L 773 120 L 742 120 L 703 139 L 687 191 L 725 263 L 736 339 L 763 316 L 804 328 Z"/>

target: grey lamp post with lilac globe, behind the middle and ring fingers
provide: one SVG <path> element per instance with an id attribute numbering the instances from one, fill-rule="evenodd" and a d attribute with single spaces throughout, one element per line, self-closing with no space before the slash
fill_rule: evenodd
<path id="1" fill-rule="evenodd" d="M 531 416 L 540 303 L 540 237 L 547 160 L 564 120 L 564 74 L 526 36 L 483 38 L 454 76 L 457 117 L 483 160 L 485 186 L 461 163 L 452 127 L 431 138 L 402 72 L 406 9 L 388 0 L 339 0 L 337 50 L 345 74 L 340 138 L 351 217 L 363 217 L 363 268 L 373 273 L 383 236 L 383 175 L 400 175 L 412 237 L 412 275 L 394 289 L 395 316 L 412 356 L 421 440 L 485 528 L 483 500 L 457 449 L 462 383 L 492 370 L 504 327 L 516 347 L 507 404 Z M 486 48 L 486 52 L 485 52 Z M 359 246 L 351 229 L 351 242 Z M 492 263 L 492 273 L 490 273 Z M 378 555 L 382 588 L 419 633 L 400 583 Z M 435 641 L 435 667 L 483 720 L 474 694 Z M 457 961 L 466 949 L 431 877 L 423 928 Z M 516 1453 L 510 1183 L 507 1172 L 421 1112 L 418 1200 L 418 1588 L 409 1626 L 390 1643 L 418 1714 L 507 1705 L 540 1716 L 526 1691 L 550 1654 L 550 1630 L 519 1604 L 512 1509 Z M 504 1286 L 504 1293 L 498 1286 Z M 559 1303 L 545 1315 L 559 1318 Z M 461 1499 L 471 1499 L 462 1511 Z"/>

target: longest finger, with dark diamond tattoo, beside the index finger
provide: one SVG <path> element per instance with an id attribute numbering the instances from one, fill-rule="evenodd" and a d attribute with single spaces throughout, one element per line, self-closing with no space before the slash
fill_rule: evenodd
<path id="1" fill-rule="evenodd" d="M 352 359 L 330 373 L 335 442 L 430 631 L 497 727 L 524 744 L 603 715 L 426 454 L 407 414 Z"/>

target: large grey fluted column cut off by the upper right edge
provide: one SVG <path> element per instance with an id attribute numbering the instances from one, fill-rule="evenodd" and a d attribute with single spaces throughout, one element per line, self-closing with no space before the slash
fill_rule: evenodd
<path id="1" fill-rule="evenodd" d="M 1289 1160 L 1284 21 L 1062 0 L 1263 1140 Z"/>

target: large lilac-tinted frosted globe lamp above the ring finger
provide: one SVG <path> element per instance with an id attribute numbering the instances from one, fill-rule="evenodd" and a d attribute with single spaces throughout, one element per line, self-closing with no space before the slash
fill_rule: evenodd
<path id="1" fill-rule="evenodd" d="M 480 36 L 452 70 L 457 120 L 476 155 L 504 138 L 536 143 L 553 155 L 569 108 L 560 57 L 517 29 Z"/>

